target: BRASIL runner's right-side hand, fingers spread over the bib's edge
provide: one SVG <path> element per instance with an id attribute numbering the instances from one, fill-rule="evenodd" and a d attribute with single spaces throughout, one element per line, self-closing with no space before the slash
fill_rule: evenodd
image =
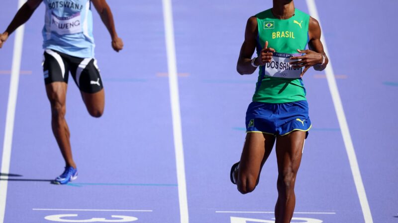
<path id="1" fill-rule="evenodd" d="M 298 53 L 305 55 L 290 57 L 290 59 L 298 59 L 297 61 L 290 62 L 290 64 L 293 65 L 293 68 L 304 67 L 300 75 L 301 77 L 309 69 L 309 67 L 321 63 L 323 60 L 322 54 L 316 53 L 315 51 L 310 51 L 310 50 L 297 50 L 297 51 Z"/>

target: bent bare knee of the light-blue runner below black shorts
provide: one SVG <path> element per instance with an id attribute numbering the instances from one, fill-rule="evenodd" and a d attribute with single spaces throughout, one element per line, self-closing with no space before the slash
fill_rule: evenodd
<path id="1" fill-rule="evenodd" d="M 105 104 L 105 94 L 103 88 L 96 93 L 81 92 L 84 104 L 86 105 L 87 111 L 93 117 L 100 117 L 103 113 Z"/>

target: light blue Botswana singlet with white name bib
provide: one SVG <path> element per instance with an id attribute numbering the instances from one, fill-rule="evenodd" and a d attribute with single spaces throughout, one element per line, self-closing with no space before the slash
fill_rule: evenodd
<path id="1" fill-rule="evenodd" d="M 90 0 L 43 0 L 43 48 L 77 57 L 94 57 Z"/>

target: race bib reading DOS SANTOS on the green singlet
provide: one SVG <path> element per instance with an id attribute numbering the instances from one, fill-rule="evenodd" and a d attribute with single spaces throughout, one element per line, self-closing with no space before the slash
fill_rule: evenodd
<path id="1" fill-rule="evenodd" d="M 296 60 L 290 59 L 292 56 L 301 56 L 300 54 L 273 53 L 271 62 L 266 63 L 265 75 L 282 78 L 300 78 L 301 68 L 293 68 L 289 62 Z"/>

